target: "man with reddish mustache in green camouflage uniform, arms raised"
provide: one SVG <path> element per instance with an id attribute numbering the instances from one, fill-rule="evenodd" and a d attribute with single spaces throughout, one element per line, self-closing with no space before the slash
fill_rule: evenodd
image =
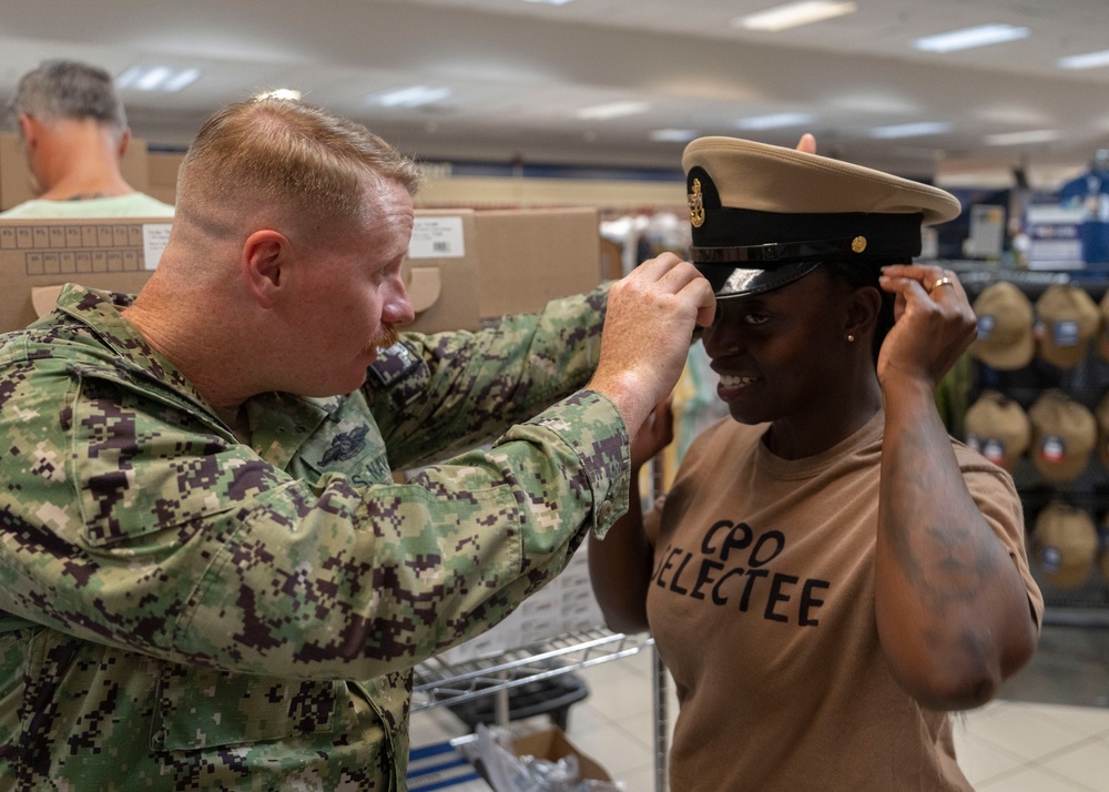
<path id="1" fill-rule="evenodd" d="M 413 667 L 624 510 L 708 284 L 667 254 L 397 341 L 416 183 L 362 126 L 232 105 L 134 299 L 0 336 L 0 786 L 403 790 Z"/>

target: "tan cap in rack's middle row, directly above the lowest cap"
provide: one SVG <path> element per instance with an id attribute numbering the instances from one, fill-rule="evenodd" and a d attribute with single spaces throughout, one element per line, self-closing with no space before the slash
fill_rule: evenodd
<path id="1" fill-rule="evenodd" d="M 1081 475 L 1098 438 L 1097 420 L 1085 405 L 1061 390 L 1047 390 L 1028 408 L 1032 464 L 1052 481 Z"/>

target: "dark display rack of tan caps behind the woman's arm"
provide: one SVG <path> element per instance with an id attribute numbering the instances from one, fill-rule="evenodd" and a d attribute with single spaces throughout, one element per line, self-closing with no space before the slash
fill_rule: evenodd
<path id="1" fill-rule="evenodd" d="M 1109 625 L 1109 276 L 960 280 L 978 318 L 963 439 L 1013 475 L 1045 620 Z"/>

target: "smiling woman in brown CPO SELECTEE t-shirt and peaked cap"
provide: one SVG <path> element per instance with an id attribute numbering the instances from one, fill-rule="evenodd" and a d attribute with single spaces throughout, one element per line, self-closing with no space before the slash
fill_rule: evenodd
<path id="1" fill-rule="evenodd" d="M 970 790 L 949 713 L 1028 661 L 1042 598 L 1009 475 L 934 399 L 975 317 L 954 273 L 912 260 L 959 204 L 813 150 L 686 149 L 731 417 L 658 510 L 633 493 L 591 539 L 593 585 L 673 674 L 674 792 Z M 668 433 L 663 406 L 637 460 Z"/>

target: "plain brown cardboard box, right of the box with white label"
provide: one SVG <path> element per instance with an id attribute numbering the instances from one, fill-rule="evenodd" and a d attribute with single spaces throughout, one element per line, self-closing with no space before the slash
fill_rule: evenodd
<path id="1" fill-rule="evenodd" d="M 597 210 L 485 210 L 475 219 L 482 317 L 533 313 L 601 282 Z"/>

